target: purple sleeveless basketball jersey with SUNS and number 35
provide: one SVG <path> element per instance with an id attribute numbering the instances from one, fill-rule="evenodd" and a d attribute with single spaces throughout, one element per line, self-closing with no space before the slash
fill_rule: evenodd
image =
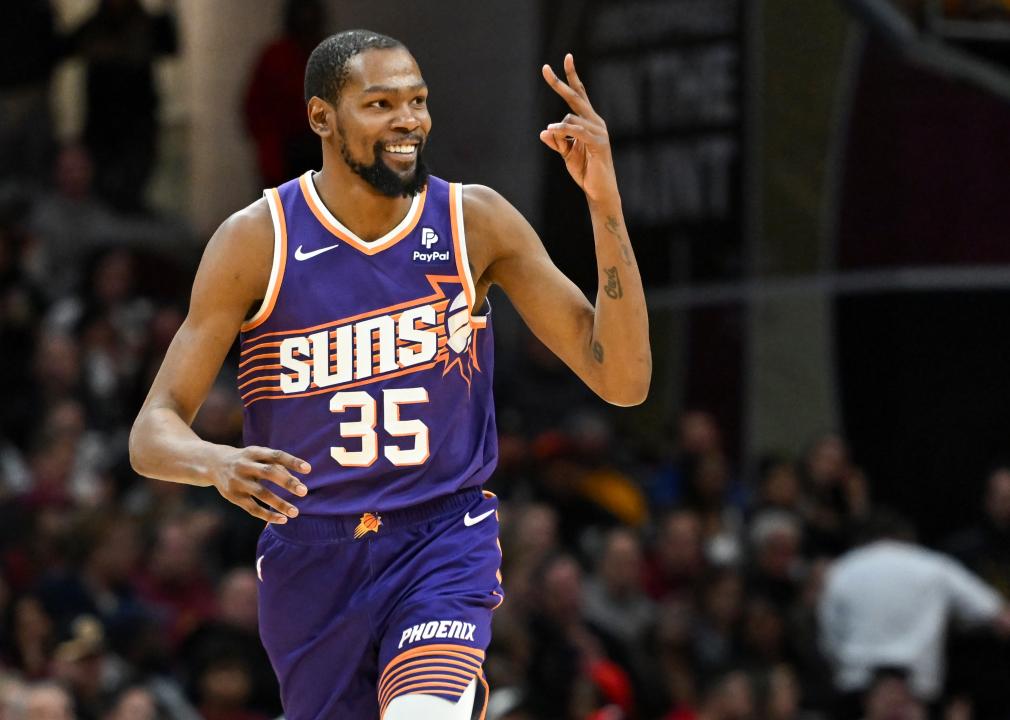
<path id="1" fill-rule="evenodd" d="M 473 316 L 462 186 L 430 178 L 366 241 L 312 173 L 266 193 L 275 230 L 263 305 L 241 328 L 244 442 L 308 460 L 304 515 L 396 510 L 480 486 L 498 457 L 493 339 Z"/>

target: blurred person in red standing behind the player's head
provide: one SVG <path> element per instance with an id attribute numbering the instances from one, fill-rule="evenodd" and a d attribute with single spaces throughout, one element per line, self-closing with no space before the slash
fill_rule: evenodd
<path id="1" fill-rule="evenodd" d="M 305 121 L 302 76 L 309 54 L 326 34 L 319 0 L 286 0 L 284 32 L 257 60 L 243 111 L 265 188 L 322 167 L 319 138 Z"/>

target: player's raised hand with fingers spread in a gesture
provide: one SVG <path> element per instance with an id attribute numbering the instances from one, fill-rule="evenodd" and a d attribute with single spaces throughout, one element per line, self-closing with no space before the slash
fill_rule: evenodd
<path id="1" fill-rule="evenodd" d="M 562 96 L 572 112 L 561 122 L 552 122 L 540 131 L 540 139 L 565 159 L 572 178 L 591 203 L 617 197 L 617 175 L 610 153 L 607 124 L 589 102 L 586 87 L 575 72 L 575 59 L 565 56 L 568 83 L 559 78 L 549 65 L 543 66 L 543 79 Z"/>

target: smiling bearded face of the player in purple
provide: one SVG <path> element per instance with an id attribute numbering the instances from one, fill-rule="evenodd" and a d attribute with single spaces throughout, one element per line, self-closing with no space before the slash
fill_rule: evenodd
<path id="1" fill-rule="evenodd" d="M 340 157 L 384 195 L 416 194 L 427 180 L 421 153 L 431 130 L 417 63 L 401 47 L 370 49 L 347 69 L 336 107 Z"/>

